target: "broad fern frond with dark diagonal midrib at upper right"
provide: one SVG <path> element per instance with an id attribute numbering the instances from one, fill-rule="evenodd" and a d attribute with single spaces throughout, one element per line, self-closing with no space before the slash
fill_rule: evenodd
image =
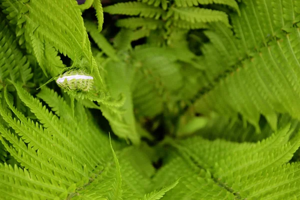
<path id="1" fill-rule="evenodd" d="M 289 113 L 299 119 L 295 102 L 299 92 L 297 45 L 300 32 L 295 26 L 297 19 L 287 17 L 288 14 L 297 15 L 294 6 L 283 3 L 280 8 L 274 3 L 273 7 L 267 7 L 256 6 L 257 3 L 241 6 L 241 13 L 245 14 L 240 17 L 232 15 L 235 36 L 222 25 L 214 27 L 216 33 L 205 33 L 214 46 L 207 52 L 208 57 L 219 53 L 221 59 L 226 60 L 226 66 L 222 68 L 219 63 L 210 62 L 209 67 L 214 70 L 207 71 L 207 76 L 215 78 L 226 68 L 232 75 L 214 81 L 213 89 L 198 99 L 196 109 L 202 113 L 214 110 L 229 117 L 237 117 L 240 113 L 243 120 L 256 127 L 256 131 L 260 131 L 258 121 L 262 114 L 275 130 L 276 113 Z M 278 13 L 279 8 L 283 17 L 265 15 L 271 11 Z M 249 16 L 255 19 L 251 20 L 252 24 L 247 24 Z"/>

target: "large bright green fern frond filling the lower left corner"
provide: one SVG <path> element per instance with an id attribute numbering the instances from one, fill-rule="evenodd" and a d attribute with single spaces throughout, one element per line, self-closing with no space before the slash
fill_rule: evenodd
<path id="1" fill-rule="evenodd" d="M 14 86 L 20 99 L 36 114 L 37 122 L 27 119 L 18 111 L 10 102 L 7 91 L 4 90 L 2 99 L 7 101 L 8 107 L 18 119 L 12 118 L 0 106 L 3 120 L 8 123 L 11 130 L 14 130 L 6 129 L 1 123 L 0 141 L 25 168 L 23 170 L 15 166 L 12 169 L 10 165 L 4 165 L 4 167 L 0 165 L 1 192 L 5 191 L 7 199 L 22 195 L 30 198 L 47 196 L 49 199 L 75 197 L 78 196 L 77 191 L 82 190 L 82 187 L 94 185 L 91 183 L 101 173 L 109 172 L 105 168 L 111 162 L 107 156 L 109 148 L 105 146 L 109 144 L 109 140 L 99 131 L 81 104 L 75 104 L 73 116 L 64 99 L 53 90 L 43 87 L 38 96 L 49 103 L 49 106 L 60 117 L 58 119 L 45 107 L 42 108 L 41 103 L 24 91 L 19 84 L 14 83 Z M 61 128 L 61 124 L 66 126 Z M 67 134 L 67 138 L 63 134 Z M 112 143 L 115 144 L 111 142 L 111 147 Z M 120 167 L 118 168 L 120 171 Z M 118 175 L 120 181 L 119 172 Z M 109 176 L 111 174 L 107 177 Z M 105 181 L 109 187 L 107 192 L 104 192 L 106 195 L 111 189 L 109 185 L 114 180 L 108 178 Z M 103 194 L 101 186 L 98 185 L 97 189 Z M 89 192 L 89 194 L 93 193 Z"/>

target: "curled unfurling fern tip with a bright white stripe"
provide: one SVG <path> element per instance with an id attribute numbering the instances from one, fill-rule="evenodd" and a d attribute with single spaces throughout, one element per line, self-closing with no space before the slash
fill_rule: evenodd
<path id="1" fill-rule="evenodd" d="M 56 83 L 67 91 L 89 91 L 93 77 L 82 70 L 69 70 L 56 79 Z"/>

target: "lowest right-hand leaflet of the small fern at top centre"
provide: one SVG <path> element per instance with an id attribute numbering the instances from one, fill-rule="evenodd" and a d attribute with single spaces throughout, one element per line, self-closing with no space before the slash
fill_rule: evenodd
<path id="1" fill-rule="evenodd" d="M 173 16 L 175 20 L 181 19 L 191 23 L 221 21 L 229 25 L 228 16 L 225 12 L 199 7 L 172 7 L 167 17 Z"/>

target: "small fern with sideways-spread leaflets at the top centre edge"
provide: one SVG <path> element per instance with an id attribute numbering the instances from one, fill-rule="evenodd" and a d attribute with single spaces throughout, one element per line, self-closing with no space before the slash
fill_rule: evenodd
<path id="1" fill-rule="evenodd" d="M 130 29 L 142 26 L 145 29 L 161 29 L 164 23 L 166 31 L 162 33 L 168 37 L 171 31 L 176 31 L 173 26 L 184 29 L 204 28 L 206 23 L 221 21 L 229 26 L 227 14 L 223 11 L 195 7 L 198 4 L 220 3 L 231 6 L 239 13 L 239 8 L 234 0 L 217 1 L 190 1 L 176 0 L 170 5 L 165 0 L 139 0 L 121 2 L 104 7 L 104 11 L 110 14 L 139 15 L 138 18 L 119 19 L 116 25 Z M 194 6 L 195 5 L 195 6 Z M 160 8 L 161 7 L 161 8 Z M 153 18 L 151 20 L 151 18 Z M 154 22 L 155 21 L 155 22 Z M 150 34 L 153 34 L 153 31 Z M 150 36 L 145 34 L 144 36 Z M 136 37 L 139 39 L 140 37 Z"/>

